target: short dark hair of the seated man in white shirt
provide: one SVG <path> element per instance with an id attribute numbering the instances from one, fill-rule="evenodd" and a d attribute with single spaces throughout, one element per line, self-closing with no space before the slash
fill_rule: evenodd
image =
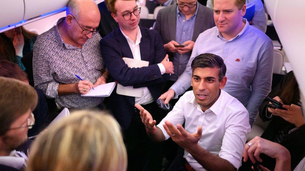
<path id="1" fill-rule="evenodd" d="M 218 68 L 219 82 L 226 75 L 227 67 L 223 63 L 223 60 L 220 56 L 214 54 L 200 54 L 194 58 L 191 64 L 192 72 L 195 68 Z"/>

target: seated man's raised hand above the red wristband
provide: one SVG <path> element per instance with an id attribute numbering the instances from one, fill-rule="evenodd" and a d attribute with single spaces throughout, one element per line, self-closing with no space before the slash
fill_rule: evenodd
<path id="1" fill-rule="evenodd" d="M 153 120 L 152 115 L 138 103 L 134 106 L 140 111 L 141 120 L 145 125 L 146 131 L 153 132 L 156 129 L 156 120 Z"/>

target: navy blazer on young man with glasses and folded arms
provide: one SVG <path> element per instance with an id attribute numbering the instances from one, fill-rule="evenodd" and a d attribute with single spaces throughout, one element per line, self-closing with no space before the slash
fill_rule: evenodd
<path id="1" fill-rule="evenodd" d="M 140 27 L 142 38 L 140 42 L 141 60 L 149 61 L 148 67 L 129 68 L 123 57 L 132 58 L 133 54 L 120 28 L 117 28 L 100 41 L 103 61 L 111 77 L 123 86 L 134 88 L 148 87 L 154 100 L 162 94 L 164 83 L 169 74 L 161 74 L 158 67 L 165 57 L 161 36 L 157 31 Z M 119 95 L 115 88 L 109 97 L 109 108 L 123 130 L 130 124 L 134 113 L 135 97 Z"/>

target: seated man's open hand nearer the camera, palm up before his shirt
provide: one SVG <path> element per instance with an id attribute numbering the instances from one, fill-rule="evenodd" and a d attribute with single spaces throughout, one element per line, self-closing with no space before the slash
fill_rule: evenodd
<path id="1" fill-rule="evenodd" d="M 187 151 L 194 149 L 194 146 L 198 145 L 198 141 L 202 136 L 201 126 L 199 126 L 197 132 L 193 134 L 187 132 L 180 124 L 177 124 L 176 128 L 170 121 L 165 121 L 163 127 L 172 140 Z"/>

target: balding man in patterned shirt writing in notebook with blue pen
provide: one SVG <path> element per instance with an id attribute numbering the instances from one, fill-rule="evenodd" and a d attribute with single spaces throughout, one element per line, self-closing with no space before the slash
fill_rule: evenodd
<path id="1" fill-rule="evenodd" d="M 37 37 L 33 48 L 35 87 L 55 98 L 60 107 L 92 108 L 103 102 L 103 97 L 81 97 L 106 83 L 108 77 L 99 48 L 99 21 L 93 0 L 70 0 L 67 16 Z"/>

